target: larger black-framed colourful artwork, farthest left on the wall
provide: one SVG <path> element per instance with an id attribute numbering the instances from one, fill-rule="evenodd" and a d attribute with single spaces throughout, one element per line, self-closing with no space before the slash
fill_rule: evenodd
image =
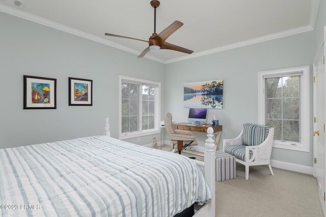
<path id="1" fill-rule="evenodd" d="M 57 79 L 24 75 L 24 109 L 57 109 Z"/>

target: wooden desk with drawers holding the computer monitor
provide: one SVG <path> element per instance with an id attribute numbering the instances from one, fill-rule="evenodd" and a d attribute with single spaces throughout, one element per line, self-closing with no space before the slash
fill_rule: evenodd
<path id="1" fill-rule="evenodd" d="M 173 123 L 173 129 L 179 129 L 179 130 L 188 130 L 188 131 L 194 131 L 194 132 L 200 132 L 200 133 L 207 133 L 207 129 L 209 127 L 213 128 L 213 135 L 215 138 L 214 139 L 214 143 L 215 143 L 215 147 L 214 147 L 214 151 L 216 150 L 220 150 L 219 148 L 219 141 L 221 138 L 221 133 L 222 133 L 222 125 L 218 125 L 218 126 L 202 126 L 202 125 L 198 125 L 198 126 L 189 126 L 189 123 Z"/>

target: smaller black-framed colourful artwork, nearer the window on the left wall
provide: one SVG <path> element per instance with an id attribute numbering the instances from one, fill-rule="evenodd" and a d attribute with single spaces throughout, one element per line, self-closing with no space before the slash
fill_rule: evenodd
<path id="1" fill-rule="evenodd" d="M 93 80 L 69 78 L 69 106 L 93 105 Z"/>

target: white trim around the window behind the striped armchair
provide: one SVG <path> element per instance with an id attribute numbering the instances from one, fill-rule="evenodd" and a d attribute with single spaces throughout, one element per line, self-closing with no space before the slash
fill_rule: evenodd
<path id="1" fill-rule="evenodd" d="M 265 124 L 265 79 L 264 75 L 273 75 L 273 74 L 288 74 L 294 72 L 302 72 L 301 76 L 301 142 L 282 142 L 279 140 L 274 140 L 273 147 L 283 148 L 297 151 L 310 152 L 310 67 L 294 67 L 288 69 L 279 69 L 279 70 L 270 70 L 258 72 L 258 123 L 260 125 Z M 282 75 L 281 75 L 282 76 Z M 291 145 L 296 144 L 296 145 Z"/>

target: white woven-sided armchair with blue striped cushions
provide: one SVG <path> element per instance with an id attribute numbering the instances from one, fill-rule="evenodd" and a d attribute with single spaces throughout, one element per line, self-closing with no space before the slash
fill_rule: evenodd
<path id="1" fill-rule="evenodd" d="M 249 166 L 270 166 L 271 147 L 273 145 L 274 128 L 244 123 L 242 132 L 234 139 L 223 140 L 223 150 L 232 154 L 236 162 L 246 166 L 246 179 L 249 179 Z"/>

